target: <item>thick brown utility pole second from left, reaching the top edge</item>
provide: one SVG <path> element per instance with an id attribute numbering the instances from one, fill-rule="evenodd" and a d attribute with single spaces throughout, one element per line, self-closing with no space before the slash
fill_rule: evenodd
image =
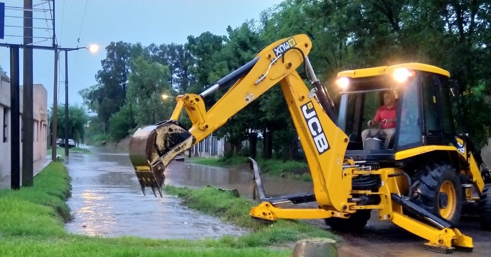
<path id="1" fill-rule="evenodd" d="M 24 93 L 22 113 L 22 185 L 32 186 L 33 117 L 32 117 L 32 0 L 24 0 Z"/>

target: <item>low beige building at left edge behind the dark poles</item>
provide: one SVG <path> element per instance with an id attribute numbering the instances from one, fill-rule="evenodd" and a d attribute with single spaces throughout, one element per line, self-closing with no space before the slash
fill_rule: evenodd
<path id="1" fill-rule="evenodd" d="M 10 165 L 11 156 L 11 127 L 10 127 L 10 78 L 1 70 L 0 67 L 0 187 L 10 187 Z M 23 112 L 23 88 L 19 89 L 20 113 L 22 135 L 22 112 Z M 34 161 L 46 158 L 47 138 L 48 138 L 48 92 L 42 84 L 33 85 L 33 159 Z M 21 136 L 22 140 L 22 136 Z M 20 145 L 20 165 L 22 166 L 22 141 Z M 21 167 L 22 170 L 22 167 Z M 7 181 L 8 180 L 8 181 Z"/>

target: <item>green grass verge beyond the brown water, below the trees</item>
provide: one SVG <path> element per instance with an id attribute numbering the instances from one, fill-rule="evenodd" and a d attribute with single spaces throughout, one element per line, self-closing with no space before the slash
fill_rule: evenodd
<path id="1" fill-rule="evenodd" d="M 225 168 L 233 168 L 244 165 L 248 168 L 249 159 L 242 156 L 233 156 L 230 158 L 204 158 L 204 157 L 192 157 L 192 162 L 218 166 Z M 304 161 L 283 161 L 279 159 L 257 159 L 257 164 L 262 174 L 271 176 L 279 176 L 292 178 L 302 181 L 312 181 L 312 177 L 308 172 L 308 165 Z"/>

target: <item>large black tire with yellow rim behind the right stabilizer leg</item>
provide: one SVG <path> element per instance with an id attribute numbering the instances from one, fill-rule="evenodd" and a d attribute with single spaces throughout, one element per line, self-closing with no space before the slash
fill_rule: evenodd
<path id="1" fill-rule="evenodd" d="M 411 198 L 427 211 L 457 225 L 464 197 L 459 173 L 444 162 L 431 162 L 413 178 Z"/>

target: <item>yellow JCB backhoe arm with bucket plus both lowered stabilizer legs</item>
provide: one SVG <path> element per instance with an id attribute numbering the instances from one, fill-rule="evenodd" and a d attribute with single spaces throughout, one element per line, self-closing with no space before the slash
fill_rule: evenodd
<path id="1" fill-rule="evenodd" d="M 262 198 L 262 203 L 250 210 L 251 217 L 262 221 L 333 218 L 359 222 L 355 216 L 358 211 L 366 213 L 377 209 L 381 220 L 392 220 L 399 227 L 428 239 L 430 247 L 446 251 L 454 246 L 471 249 L 470 237 L 405 196 L 406 178 L 399 176 L 404 174 L 402 169 L 372 169 L 372 166 L 361 166 L 352 159 L 344 159 L 348 136 L 333 122 L 336 115 L 332 101 L 316 78 L 307 57 L 311 47 L 306 35 L 276 41 L 203 93 L 178 96 L 169 120 L 138 129 L 131 138 L 129 150 L 143 193 L 145 187 L 151 187 L 154 194 L 156 189 L 161 193 L 165 167 L 177 154 L 206 138 L 247 104 L 279 84 L 305 152 L 318 207 L 278 206 L 288 201 L 294 203 L 297 201 L 294 198 L 313 202 L 312 194 Z M 314 87 L 312 90 L 296 71 L 302 63 Z M 207 111 L 203 98 L 231 82 L 235 82 L 234 85 Z M 183 110 L 192 122 L 189 130 L 177 122 Z M 474 163 L 472 158 L 471 163 Z M 478 173 L 476 165 L 471 166 L 472 172 Z M 365 189 L 359 183 L 358 187 L 353 187 L 353 178 L 360 177 L 374 180 L 377 188 Z M 475 183 L 483 184 L 482 180 Z"/>

